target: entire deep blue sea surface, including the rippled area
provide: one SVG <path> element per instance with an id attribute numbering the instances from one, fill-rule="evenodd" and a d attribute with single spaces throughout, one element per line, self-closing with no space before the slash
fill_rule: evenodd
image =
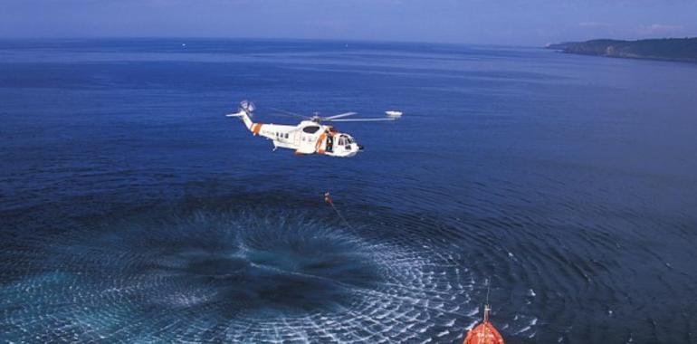
<path id="1" fill-rule="evenodd" d="M 243 99 L 405 115 L 299 158 Z M 510 343 L 694 343 L 695 129 L 693 64 L 2 41 L 0 341 L 452 343 L 489 279 Z"/>

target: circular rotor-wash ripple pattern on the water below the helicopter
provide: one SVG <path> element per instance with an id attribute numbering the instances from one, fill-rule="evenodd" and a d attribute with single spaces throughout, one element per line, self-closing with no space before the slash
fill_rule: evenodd
<path id="1" fill-rule="evenodd" d="M 153 207 L 15 239 L 0 261 L 3 330 L 18 341 L 405 342 L 459 339 L 473 320 L 462 257 L 410 232 L 408 217 L 354 231 L 320 205 L 265 203 Z"/>

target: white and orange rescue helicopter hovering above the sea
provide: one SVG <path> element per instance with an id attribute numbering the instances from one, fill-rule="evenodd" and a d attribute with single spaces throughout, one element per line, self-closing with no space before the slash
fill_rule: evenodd
<path id="1" fill-rule="evenodd" d="M 344 112 L 329 117 L 320 117 L 315 112 L 313 116 L 309 117 L 294 112 L 273 109 L 283 112 L 286 116 L 295 116 L 303 119 L 300 124 L 292 126 L 253 122 L 252 114 L 254 110 L 256 110 L 256 106 L 252 101 L 243 100 L 240 102 L 240 108 L 236 113 L 230 113 L 225 116 L 242 119 L 244 125 L 252 131 L 254 136 L 259 135 L 266 139 L 271 139 L 274 151 L 277 148 L 288 148 L 294 149 L 295 155 L 321 154 L 337 158 L 353 157 L 363 150 L 363 146 L 358 145 L 358 142 L 347 133 L 339 132 L 334 127 L 324 125 L 322 122 L 366 122 L 396 119 L 344 119 L 344 117 L 356 115 L 357 112 Z"/>

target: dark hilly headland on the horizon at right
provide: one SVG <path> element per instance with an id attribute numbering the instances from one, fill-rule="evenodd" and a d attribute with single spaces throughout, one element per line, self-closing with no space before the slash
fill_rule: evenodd
<path id="1" fill-rule="evenodd" d="M 591 40 L 547 44 L 562 53 L 697 63 L 697 37 L 638 41 Z"/>

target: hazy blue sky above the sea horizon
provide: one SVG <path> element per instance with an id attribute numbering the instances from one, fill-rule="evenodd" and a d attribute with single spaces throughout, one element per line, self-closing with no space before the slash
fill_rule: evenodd
<path id="1" fill-rule="evenodd" d="M 0 37 L 543 45 L 697 36 L 697 0 L 0 0 Z"/>

